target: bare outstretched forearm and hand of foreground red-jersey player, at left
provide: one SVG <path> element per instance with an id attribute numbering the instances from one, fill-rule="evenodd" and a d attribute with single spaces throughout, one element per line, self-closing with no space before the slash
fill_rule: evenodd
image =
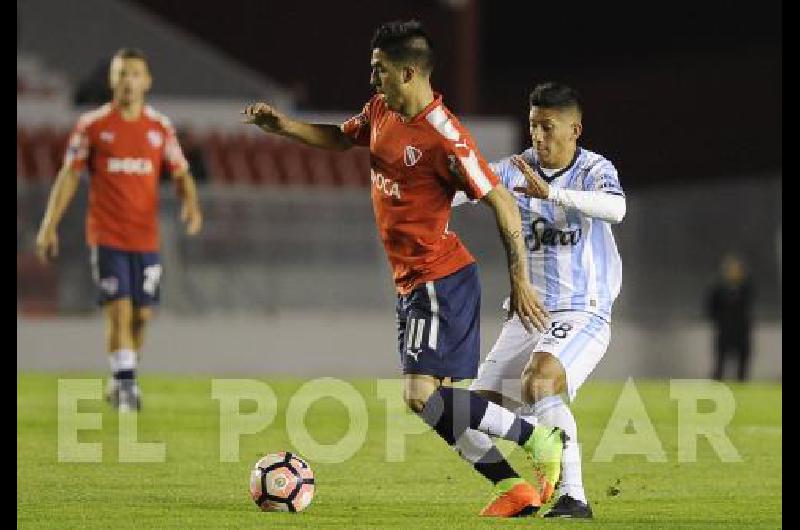
<path id="1" fill-rule="evenodd" d="M 266 103 L 249 105 L 242 114 L 244 123 L 251 123 L 265 132 L 280 134 L 314 147 L 344 151 L 353 146 L 350 138 L 338 125 L 294 120 Z"/>

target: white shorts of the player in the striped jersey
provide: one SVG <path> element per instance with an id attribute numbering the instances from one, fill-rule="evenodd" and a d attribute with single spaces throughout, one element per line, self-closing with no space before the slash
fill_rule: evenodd
<path id="1" fill-rule="evenodd" d="M 544 351 L 561 361 L 569 400 L 575 399 L 608 349 L 611 326 L 585 311 L 557 311 L 550 318 L 550 329 L 545 333 L 535 329 L 528 333 L 516 315 L 506 321 L 470 389 L 491 390 L 522 403 L 522 370 L 533 352 Z"/>

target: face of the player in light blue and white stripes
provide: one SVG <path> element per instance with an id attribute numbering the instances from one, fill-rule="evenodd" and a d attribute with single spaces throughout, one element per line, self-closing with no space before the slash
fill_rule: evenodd
<path id="1" fill-rule="evenodd" d="M 557 169 L 569 164 L 582 130 L 577 109 L 531 107 L 528 117 L 531 141 L 542 167 Z"/>

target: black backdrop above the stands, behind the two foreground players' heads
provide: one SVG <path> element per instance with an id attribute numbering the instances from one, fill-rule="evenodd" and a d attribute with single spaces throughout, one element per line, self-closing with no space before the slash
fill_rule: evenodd
<path id="1" fill-rule="evenodd" d="M 192 2 L 136 0 L 282 83 L 315 109 L 369 95 L 374 27 L 418 17 L 454 112 L 524 118 L 533 84 L 585 88 L 584 142 L 628 188 L 780 167 L 781 3 Z M 520 120 L 523 132 L 526 122 Z"/>

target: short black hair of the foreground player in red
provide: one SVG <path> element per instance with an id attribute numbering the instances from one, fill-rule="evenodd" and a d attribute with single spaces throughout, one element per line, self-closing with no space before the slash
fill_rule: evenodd
<path id="1" fill-rule="evenodd" d="M 426 73 L 433 70 L 433 44 L 418 20 L 394 20 L 378 26 L 371 48 L 383 51 L 392 62 L 414 64 Z"/>

